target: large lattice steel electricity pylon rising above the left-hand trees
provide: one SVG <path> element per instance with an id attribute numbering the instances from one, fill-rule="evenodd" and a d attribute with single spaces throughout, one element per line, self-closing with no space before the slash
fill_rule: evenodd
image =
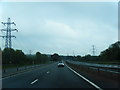
<path id="1" fill-rule="evenodd" d="M 16 38 L 14 35 L 11 35 L 12 31 L 17 31 L 17 29 L 11 29 L 11 25 L 14 24 L 16 26 L 16 24 L 14 22 L 11 22 L 11 19 L 8 18 L 7 22 L 1 22 L 3 25 L 6 25 L 7 28 L 6 29 L 1 29 L 1 31 L 6 31 L 6 35 L 4 36 L 0 36 L 5 38 L 5 48 L 12 48 L 12 41 L 11 38 L 14 37 Z"/>

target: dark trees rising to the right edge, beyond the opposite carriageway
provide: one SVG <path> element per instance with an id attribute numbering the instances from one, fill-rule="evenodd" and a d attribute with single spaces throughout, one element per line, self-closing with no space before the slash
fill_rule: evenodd
<path id="1" fill-rule="evenodd" d="M 120 41 L 111 44 L 106 50 L 102 51 L 98 56 L 91 56 L 90 54 L 81 57 L 75 57 L 76 60 L 101 60 L 101 61 L 118 61 L 120 60 Z"/>

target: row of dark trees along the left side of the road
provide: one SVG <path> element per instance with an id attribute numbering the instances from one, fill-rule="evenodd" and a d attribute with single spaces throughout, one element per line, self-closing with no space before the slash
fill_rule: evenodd
<path id="1" fill-rule="evenodd" d="M 25 55 L 22 50 L 14 50 L 12 48 L 5 48 L 2 51 L 2 64 L 40 64 L 49 61 L 49 57 L 46 54 L 36 52 L 35 55 Z"/>

